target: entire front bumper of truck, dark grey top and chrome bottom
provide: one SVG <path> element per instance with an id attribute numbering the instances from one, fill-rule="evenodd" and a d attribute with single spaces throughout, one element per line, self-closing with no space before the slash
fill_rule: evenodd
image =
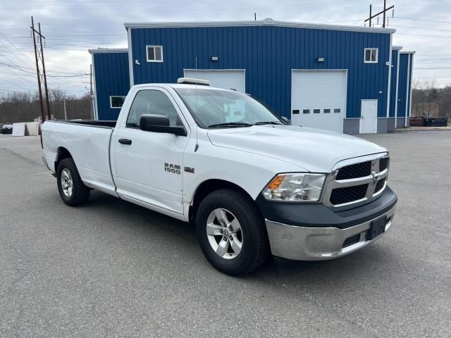
<path id="1" fill-rule="evenodd" d="M 354 208 L 290 204 L 257 198 L 274 256 L 321 261 L 345 256 L 375 242 L 393 223 L 397 196 L 386 187 L 378 199 Z M 385 232 L 367 239 L 373 220 L 385 217 Z"/>

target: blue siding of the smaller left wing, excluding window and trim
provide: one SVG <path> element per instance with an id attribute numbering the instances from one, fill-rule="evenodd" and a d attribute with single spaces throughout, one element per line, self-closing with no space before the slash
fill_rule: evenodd
<path id="1" fill-rule="evenodd" d="M 94 53 L 94 69 L 99 120 L 117 120 L 121 109 L 110 108 L 110 96 L 125 96 L 130 90 L 128 53 Z"/>

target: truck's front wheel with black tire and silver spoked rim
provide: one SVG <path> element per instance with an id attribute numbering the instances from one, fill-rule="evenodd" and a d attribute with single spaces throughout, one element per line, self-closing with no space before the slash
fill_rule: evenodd
<path id="1" fill-rule="evenodd" d="M 254 201 L 237 189 L 217 190 L 204 198 L 196 215 L 196 232 L 206 259 L 228 275 L 251 273 L 269 256 L 264 219 Z"/>

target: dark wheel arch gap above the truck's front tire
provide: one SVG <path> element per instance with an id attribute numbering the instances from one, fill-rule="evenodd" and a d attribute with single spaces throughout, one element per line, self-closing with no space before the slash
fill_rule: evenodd
<path id="1" fill-rule="evenodd" d="M 216 190 L 219 189 L 236 189 L 239 192 L 242 192 L 242 194 L 245 194 L 245 196 L 247 196 L 249 200 L 255 203 L 254 199 L 252 199 L 252 196 L 250 196 L 249 193 L 245 189 L 240 187 L 238 184 L 235 184 L 227 180 L 219 180 L 219 179 L 205 180 L 204 182 L 199 184 L 194 191 L 192 202 L 190 204 L 190 210 L 188 212 L 190 223 L 194 223 L 197 209 L 199 208 L 202 199 L 204 199 L 204 197 L 210 194 L 211 192 L 215 192 Z"/>

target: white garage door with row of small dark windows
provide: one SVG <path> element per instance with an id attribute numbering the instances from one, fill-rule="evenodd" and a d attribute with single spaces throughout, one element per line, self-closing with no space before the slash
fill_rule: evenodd
<path id="1" fill-rule="evenodd" d="M 346 70 L 292 70 L 292 125 L 343 132 L 346 84 Z"/>

